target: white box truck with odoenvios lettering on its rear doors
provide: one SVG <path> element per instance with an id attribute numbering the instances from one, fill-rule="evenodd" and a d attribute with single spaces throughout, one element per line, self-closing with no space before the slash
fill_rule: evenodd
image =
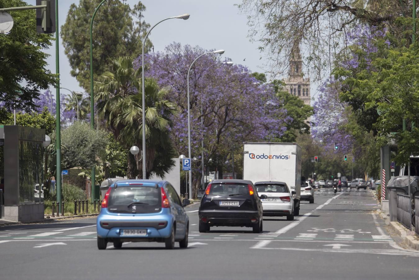
<path id="1" fill-rule="evenodd" d="M 300 145 L 297 143 L 274 142 L 244 142 L 243 145 L 243 180 L 249 180 L 253 183 L 261 181 L 286 183 L 293 194 L 293 215 L 299 215 L 301 194 Z"/>

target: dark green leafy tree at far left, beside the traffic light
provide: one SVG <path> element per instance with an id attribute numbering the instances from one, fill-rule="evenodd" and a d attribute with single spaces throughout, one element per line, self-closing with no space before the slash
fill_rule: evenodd
<path id="1" fill-rule="evenodd" d="M 0 8 L 26 6 L 21 0 L 0 0 Z M 13 28 L 0 36 L 0 102 L 13 110 L 35 109 L 34 99 L 41 89 L 55 83 L 55 76 L 46 69 L 52 34 L 36 33 L 35 10 L 10 11 Z M 25 86 L 22 86 L 25 84 Z M 16 92 L 21 91 L 19 98 Z"/>

